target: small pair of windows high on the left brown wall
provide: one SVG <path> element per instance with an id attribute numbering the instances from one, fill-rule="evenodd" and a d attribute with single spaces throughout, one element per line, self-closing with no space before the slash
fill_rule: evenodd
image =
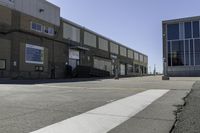
<path id="1" fill-rule="evenodd" d="M 41 32 L 41 33 L 45 33 L 45 34 L 48 34 L 48 35 L 51 35 L 51 36 L 54 35 L 54 28 L 44 26 L 42 24 L 35 23 L 35 22 L 31 22 L 31 30 Z"/>

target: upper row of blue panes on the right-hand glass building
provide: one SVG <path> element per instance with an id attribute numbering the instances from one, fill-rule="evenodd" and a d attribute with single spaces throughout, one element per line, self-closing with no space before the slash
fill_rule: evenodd
<path id="1" fill-rule="evenodd" d="M 177 24 L 167 25 L 168 40 L 183 40 L 200 37 L 199 21 L 182 22 Z"/>

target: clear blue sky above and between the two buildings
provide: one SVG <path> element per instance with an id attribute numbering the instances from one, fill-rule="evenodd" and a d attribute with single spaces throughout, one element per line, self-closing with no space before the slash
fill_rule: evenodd
<path id="1" fill-rule="evenodd" d="M 162 20 L 199 16 L 199 0 L 48 0 L 61 16 L 149 57 L 162 71 Z"/>

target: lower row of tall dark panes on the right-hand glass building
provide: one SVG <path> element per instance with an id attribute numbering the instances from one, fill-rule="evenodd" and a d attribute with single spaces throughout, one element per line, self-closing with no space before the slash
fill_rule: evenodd
<path id="1" fill-rule="evenodd" d="M 168 41 L 168 66 L 200 65 L 200 39 Z"/>

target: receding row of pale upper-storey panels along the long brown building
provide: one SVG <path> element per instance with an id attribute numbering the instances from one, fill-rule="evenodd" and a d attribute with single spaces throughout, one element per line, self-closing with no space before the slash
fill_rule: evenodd
<path id="1" fill-rule="evenodd" d="M 63 38 L 80 43 L 81 35 L 82 34 L 81 34 L 80 28 L 68 23 L 63 23 Z M 139 58 L 140 56 L 139 53 L 135 53 L 133 50 L 130 50 L 130 49 L 127 50 L 126 47 L 119 46 L 117 43 L 114 43 L 112 41 L 110 42 L 110 45 L 109 45 L 108 39 L 99 37 L 95 33 L 84 31 L 83 35 L 84 35 L 83 37 L 84 44 L 87 46 L 98 48 L 104 51 L 110 51 L 112 54 L 117 54 L 117 55 L 120 54 L 121 56 L 125 56 L 131 59 L 135 57 L 135 60 L 147 63 L 147 59 L 145 57 L 144 57 L 145 59 L 143 59 L 143 57 Z M 98 42 L 97 42 L 97 38 L 98 38 Z M 97 46 L 97 43 L 98 43 L 98 46 Z"/>

